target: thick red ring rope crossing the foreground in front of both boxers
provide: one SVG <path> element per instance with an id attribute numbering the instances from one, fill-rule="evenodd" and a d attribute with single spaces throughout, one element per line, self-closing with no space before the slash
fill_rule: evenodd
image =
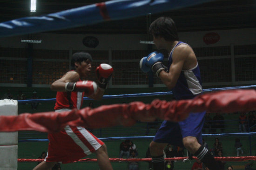
<path id="1" fill-rule="evenodd" d="M 0 132 L 35 130 L 58 132 L 67 125 L 86 128 L 131 126 L 136 120 L 154 121 L 156 118 L 182 121 L 191 112 L 233 113 L 256 110 L 256 90 L 225 90 L 198 95 L 191 100 L 160 101 L 151 104 L 140 101 L 129 104 L 103 105 L 69 112 L 22 113 L 0 116 Z M 108 121 L 106 121 L 108 120 Z"/>

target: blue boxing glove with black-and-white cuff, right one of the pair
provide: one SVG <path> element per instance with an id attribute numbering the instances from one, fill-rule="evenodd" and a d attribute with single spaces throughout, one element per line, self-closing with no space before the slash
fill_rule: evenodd
<path id="1" fill-rule="evenodd" d="M 156 76 L 159 76 L 159 73 L 162 70 L 166 70 L 166 67 L 162 64 L 163 54 L 157 51 L 151 52 L 146 60 L 145 65 L 150 67 Z"/>

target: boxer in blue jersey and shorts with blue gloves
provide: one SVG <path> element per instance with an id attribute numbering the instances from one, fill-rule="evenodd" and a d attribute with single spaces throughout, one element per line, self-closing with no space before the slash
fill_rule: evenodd
<path id="1" fill-rule="evenodd" d="M 195 53 L 188 44 L 179 41 L 174 21 L 160 17 L 150 25 L 149 33 L 157 49 L 168 50 L 168 67 L 162 64 L 163 54 L 155 51 L 141 59 L 141 70 L 152 69 L 172 90 L 176 100 L 192 99 L 201 94 L 202 82 Z M 163 121 L 149 145 L 154 170 L 164 169 L 163 150 L 168 144 L 185 147 L 209 170 L 218 170 L 214 157 L 201 145 L 204 115 L 205 112 L 190 113 L 186 120 L 178 123 Z"/>

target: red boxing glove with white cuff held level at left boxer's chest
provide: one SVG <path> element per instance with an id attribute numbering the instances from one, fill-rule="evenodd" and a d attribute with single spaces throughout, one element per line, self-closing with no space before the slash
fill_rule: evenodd
<path id="1" fill-rule="evenodd" d="M 67 82 L 65 85 L 66 91 L 84 91 L 86 96 L 96 93 L 97 88 L 97 84 L 93 81 Z"/>

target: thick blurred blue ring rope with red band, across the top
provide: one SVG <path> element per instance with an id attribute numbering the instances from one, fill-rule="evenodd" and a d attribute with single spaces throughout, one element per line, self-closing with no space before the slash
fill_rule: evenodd
<path id="1" fill-rule="evenodd" d="M 0 23 L 0 37 L 31 34 L 92 25 L 106 20 L 128 19 L 161 13 L 213 0 L 110 0 L 47 15 Z"/>

